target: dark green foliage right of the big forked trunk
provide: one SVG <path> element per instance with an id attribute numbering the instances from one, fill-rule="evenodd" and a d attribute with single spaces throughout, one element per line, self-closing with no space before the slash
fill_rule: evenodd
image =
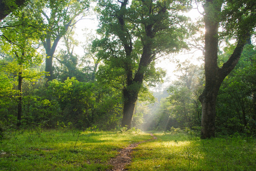
<path id="1" fill-rule="evenodd" d="M 225 54 L 223 60 L 225 60 Z M 247 45 L 236 68 L 220 88 L 216 107 L 216 126 L 220 133 L 256 133 L 255 57 L 255 47 Z"/>

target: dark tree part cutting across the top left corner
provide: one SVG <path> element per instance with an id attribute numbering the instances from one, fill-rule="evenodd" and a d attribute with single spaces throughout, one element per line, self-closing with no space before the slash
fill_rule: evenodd
<path id="1" fill-rule="evenodd" d="M 0 0 L 0 20 L 17 10 L 27 0 Z"/>

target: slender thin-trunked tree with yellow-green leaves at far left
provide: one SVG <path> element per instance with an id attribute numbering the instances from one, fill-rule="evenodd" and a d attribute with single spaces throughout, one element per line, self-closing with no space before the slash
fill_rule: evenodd
<path id="1" fill-rule="evenodd" d="M 30 14 L 27 11 L 19 11 L 18 16 L 12 16 L 8 21 L 4 22 L 1 29 L 2 46 L 1 49 L 11 55 L 13 65 L 16 70 L 14 72 L 18 76 L 18 112 L 17 125 L 20 126 L 22 113 L 22 81 L 26 79 L 35 79 L 41 76 L 41 73 L 33 72 L 30 67 L 41 64 L 42 57 L 37 52 L 36 44 L 39 44 L 41 38 L 41 31 L 35 29 L 31 20 Z"/>

